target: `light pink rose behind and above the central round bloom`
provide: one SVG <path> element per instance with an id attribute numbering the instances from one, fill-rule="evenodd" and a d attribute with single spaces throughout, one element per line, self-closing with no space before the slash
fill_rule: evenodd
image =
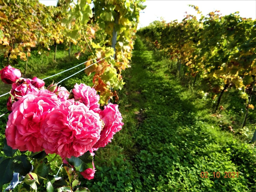
<path id="1" fill-rule="evenodd" d="M 97 95 L 96 90 L 82 83 L 80 85 L 76 83 L 74 87 L 75 89 L 73 89 L 72 92 L 75 100 L 79 99 L 79 101 L 83 102 L 90 110 L 98 113 L 100 111 L 99 95 Z"/>

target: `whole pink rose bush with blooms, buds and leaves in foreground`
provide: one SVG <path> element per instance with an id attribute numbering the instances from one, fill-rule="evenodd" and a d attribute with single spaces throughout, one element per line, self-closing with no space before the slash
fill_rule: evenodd
<path id="1" fill-rule="evenodd" d="M 20 181 L 19 191 L 23 183 L 37 190 L 39 179 L 47 180 L 41 184 L 47 191 L 53 191 L 49 187 L 62 179 L 49 172 L 50 163 L 57 156 L 62 158 L 68 175 L 66 183 L 61 181 L 67 189 L 79 184 L 77 173 L 88 180 L 93 179 L 96 171 L 93 151 L 105 147 L 123 126 L 118 105 L 109 103 L 101 110 L 96 90 L 85 84 L 75 84 L 69 93 L 65 87 L 53 83 L 46 88 L 44 81 L 37 77 L 21 78 L 19 70 L 11 66 L 2 69 L 0 74 L 2 81 L 12 84 L 7 101 L 11 113 L 5 130 L 5 149 L 9 157 L 0 162 L 5 169 L 3 172 L 9 172 L 6 181 L 11 181 L 11 174 L 8 166 L 2 163 L 11 162 L 11 167 L 18 163 L 15 172 L 25 176 Z M 17 149 L 23 154 L 13 156 Z M 25 151 L 32 154 L 27 156 Z M 49 154 L 56 155 L 48 161 Z M 40 176 L 42 170 L 44 177 Z"/>

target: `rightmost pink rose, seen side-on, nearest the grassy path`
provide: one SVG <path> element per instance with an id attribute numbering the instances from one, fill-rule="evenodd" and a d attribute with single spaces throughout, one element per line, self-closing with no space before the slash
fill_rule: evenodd
<path id="1" fill-rule="evenodd" d="M 94 149 L 105 147 L 116 132 L 120 131 L 123 126 L 122 116 L 118 110 L 118 105 L 109 103 L 104 110 L 99 113 L 102 121 L 105 123 L 104 128 L 100 132 L 99 141 L 93 145 Z"/>

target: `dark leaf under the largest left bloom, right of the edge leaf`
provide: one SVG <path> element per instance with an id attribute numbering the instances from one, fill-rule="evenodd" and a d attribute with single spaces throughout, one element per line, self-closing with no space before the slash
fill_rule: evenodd
<path id="1" fill-rule="evenodd" d="M 15 157 L 15 160 L 20 161 L 21 163 L 14 163 L 14 171 L 20 173 L 20 175 L 25 176 L 28 174 L 32 168 L 32 164 L 29 162 L 26 155 L 18 155 Z"/>

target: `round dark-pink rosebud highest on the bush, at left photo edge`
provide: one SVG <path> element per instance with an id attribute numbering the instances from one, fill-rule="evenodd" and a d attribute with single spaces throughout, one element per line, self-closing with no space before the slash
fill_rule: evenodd
<path id="1" fill-rule="evenodd" d="M 17 81 L 21 77 L 21 73 L 19 69 L 15 69 L 10 65 L 6 66 L 0 71 L 1 79 L 6 84 L 12 84 Z"/>

